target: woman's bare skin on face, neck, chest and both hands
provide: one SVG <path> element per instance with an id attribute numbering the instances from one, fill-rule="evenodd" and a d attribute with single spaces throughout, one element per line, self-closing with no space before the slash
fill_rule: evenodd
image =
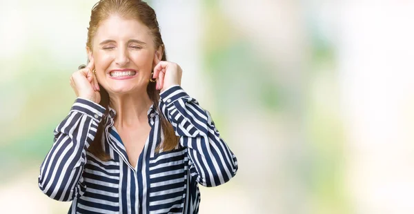
<path id="1" fill-rule="evenodd" d="M 147 112 L 152 101 L 146 87 L 157 79 L 160 92 L 181 84 L 182 70 L 170 61 L 161 61 L 162 46 L 155 47 L 150 30 L 135 19 L 112 15 L 101 22 L 92 48 L 86 48 L 90 63 L 70 77 L 70 86 L 77 97 L 99 103 L 99 84 L 108 91 L 110 107 L 117 112 L 114 126 L 119 133 L 128 159 L 136 166 L 137 159 L 148 139 L 150 126 Z M 92 70 L 95 69 L 95 74 Z M 134 70 L 129 79 L 114 79 L 113 70 Z"/>

